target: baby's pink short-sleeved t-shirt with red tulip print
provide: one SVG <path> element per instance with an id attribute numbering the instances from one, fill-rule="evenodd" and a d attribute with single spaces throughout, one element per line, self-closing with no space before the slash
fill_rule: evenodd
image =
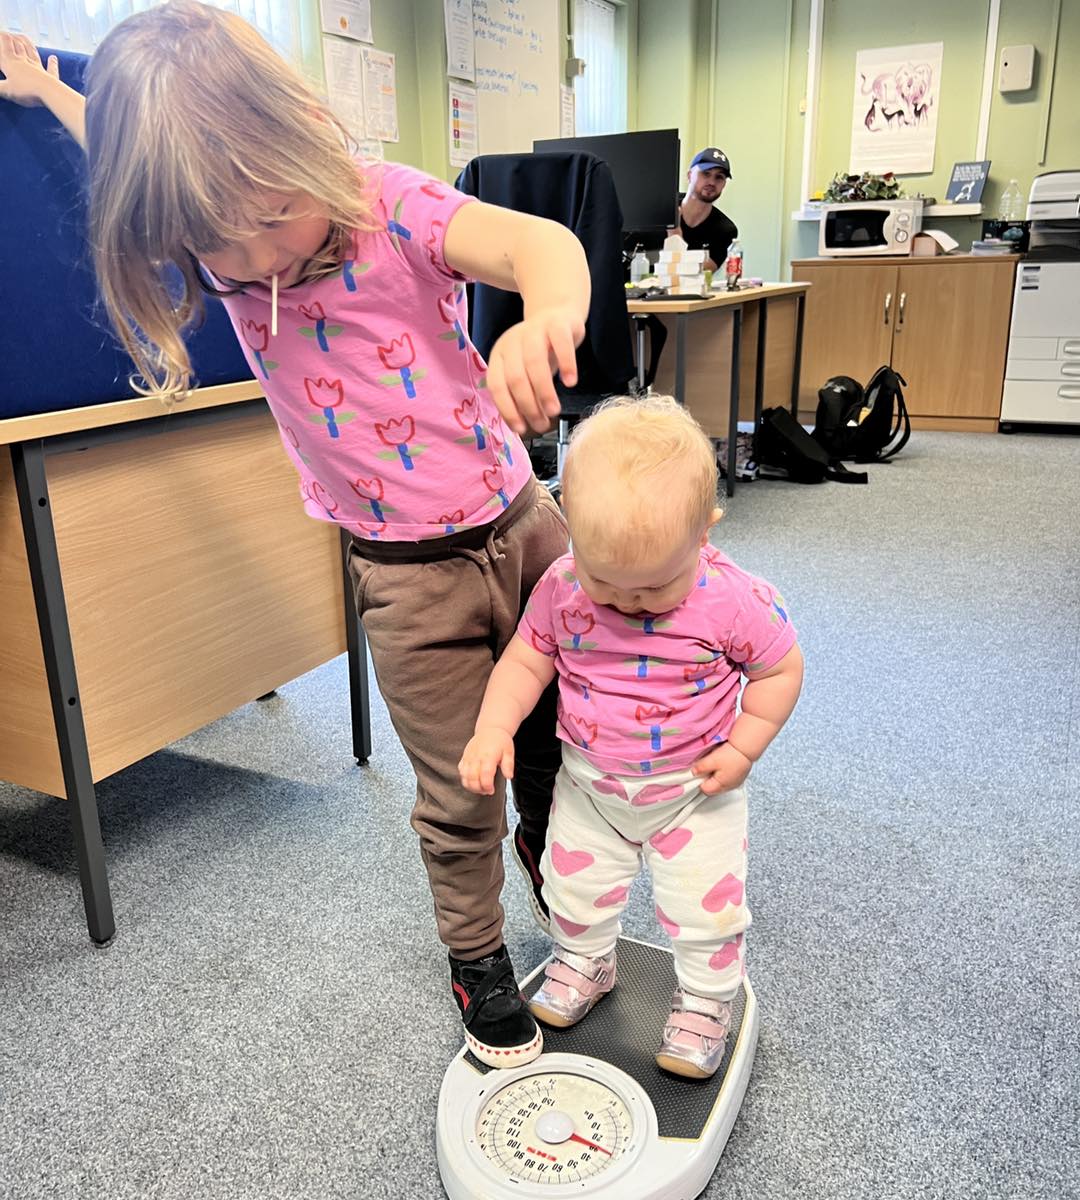
<path id="1" fill-rule="evenodd" d="M 554 659 L 559 737 L 600 770 L 631 776 L 688 767 L 726 740 L 743 672 L 767 671 L 796 642 L 775 588 L 713 546 L 686 599 L 659 616 L 593 604 L 564 554 L 517 632 Z"/>

